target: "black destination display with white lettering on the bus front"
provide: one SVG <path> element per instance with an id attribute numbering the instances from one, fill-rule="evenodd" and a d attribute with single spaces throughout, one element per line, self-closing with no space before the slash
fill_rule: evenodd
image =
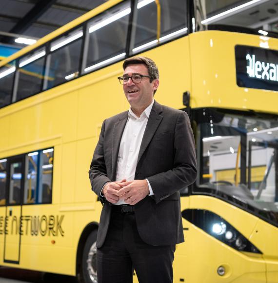
<path id="1" fill-rule="evenodd" d="M 236 45 L 237 84 L 278 91 L 278 51 Z"/>

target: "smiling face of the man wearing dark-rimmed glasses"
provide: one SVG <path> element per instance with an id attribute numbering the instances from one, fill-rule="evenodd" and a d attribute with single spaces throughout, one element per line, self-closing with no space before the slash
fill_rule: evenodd
<path id="1" fill-rule="evenodd" d="M 144 64 L 128 65 L 123 76 L 145 75 L 148 69 Z M 148 106 L 153 101 L 154 90 L 159 86 L 159 80 L 150 82 L 150 78 L 142 78 L 140 83 L 134 83 L 131 79 L 123 85 L 123 91 L 131 107 L 141 108 Z"/>

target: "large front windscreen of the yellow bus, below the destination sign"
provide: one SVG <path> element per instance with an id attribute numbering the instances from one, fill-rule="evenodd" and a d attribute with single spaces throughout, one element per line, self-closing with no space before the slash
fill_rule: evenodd
<path id="1" fill-rule="evenodd" d="M 278 118 L 213 109 L 195 115 L 201 162 L 195 189 L 278 212 Z"/>

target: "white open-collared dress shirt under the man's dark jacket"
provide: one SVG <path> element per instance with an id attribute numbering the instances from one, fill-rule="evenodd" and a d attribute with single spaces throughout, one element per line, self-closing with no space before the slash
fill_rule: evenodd
<path id="1" fill-rule="evenodd" d="M 140 145 L 153 105 L 154 101 L 143 111 L 140 117 L 137 117 L 129 108 L 128 119 L 119 145 L 116 181 L 134 180 Z M 152 196 L 154 194 L 152 187 L 147 179 L 146 181 L 149 185 L 149 196 Z M 126 202 L 119 200 L 114 204 L 126 204 Z"/>

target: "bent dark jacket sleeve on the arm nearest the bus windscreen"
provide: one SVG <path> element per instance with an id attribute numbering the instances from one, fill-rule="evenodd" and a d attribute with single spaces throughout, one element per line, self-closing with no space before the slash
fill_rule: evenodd
<path id="1" fill-rule="evenodd" d="M 195 142 L 187 113 L 180 112 L 174 132 L 173 168 L 148 177 L 158 203 L 180 189 L 189 186 L 197 178 Z"/>

